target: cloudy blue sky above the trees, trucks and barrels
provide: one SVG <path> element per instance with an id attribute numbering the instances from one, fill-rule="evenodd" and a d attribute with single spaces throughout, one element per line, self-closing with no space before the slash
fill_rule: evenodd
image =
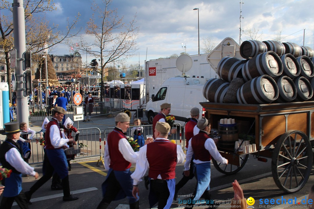
<path id="1" fill-rule="evenodd" d="M 101 0 L 96 0 L 101 3 Z M 305 30 L 305 45 L 313 48 L 314 18 L 313 0 L 243 0 L 242 4 L 242 41 L 248 38 L 246 29 L 258 29 L 263 32 L 262 40 L 274 39 L 278 31 L 286 37 L 282 42 L 303 44 L 303 29 Z M 84 29 L 92 16 L 90 0 L 54 0 L 57 10 L 46 13 L 50 23 L 59 24 L 59 29 L 65 28 L 66 18 L 70 20 L 79 12 L 81 14 L 78 27 Z M 239 42 L 240 33 L 240 0 L 113 0 L 110 6 L 117 8 L 118 15 L 124 16 L 129 22 L 136 14 L 139 56 L 127 61 L 129 64 L 144 64 L 144 60 L 180 54 L 186 45 L 187 53 L 198 54 L 198 11 L 200 44 L 203 38 L 213 36 L 217 44 L 224 38 L 231 37 Z M 301 31 L 300 31 L 301 30 Z M 299 32 L 297 32 L 299 31 Z M 297 32 L 297 33 L 296 33 Z M 291 35 L 292 34 L 292 35 Z M 147 58 L 146 58 L 147 49 Z M 65 44 L 58 45 L 53 54 L 68 54 L 70 49 Z M 202 53 L 202 52 L 201 52 Z M 85 55 L 83 55 L 85 61 Z M 91 57 L 88 56 L 88 62 Z"/>

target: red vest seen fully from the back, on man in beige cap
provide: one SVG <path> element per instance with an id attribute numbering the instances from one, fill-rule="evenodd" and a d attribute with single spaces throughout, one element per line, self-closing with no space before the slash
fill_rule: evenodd
<path id="1" fill-rule="evenodd" d="M 148 176 L 157 179 L 174 179 L 176 177 L 176 144 L 168 140 L 155 140 L 147 144 L 146 157 L 149 162 Z"/>

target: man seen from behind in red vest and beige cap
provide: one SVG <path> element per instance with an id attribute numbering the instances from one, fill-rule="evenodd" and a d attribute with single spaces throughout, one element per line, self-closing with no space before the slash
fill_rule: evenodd
<path id="1" fill-rule="evenodd" d="M 149 169 L 150 180 L 149 205 L 152 208 L 158 202 L 158 209 L 171 207 L 176 186 L 176 164 L 183 163 L 185 155 L 180 145 L 171 143 L 168 138 L 170 125 L 157 122 L 155 141 L 143 146 L 139 151 L 133 178 L 133 196 L 136 197 L 138 182 Z"/>

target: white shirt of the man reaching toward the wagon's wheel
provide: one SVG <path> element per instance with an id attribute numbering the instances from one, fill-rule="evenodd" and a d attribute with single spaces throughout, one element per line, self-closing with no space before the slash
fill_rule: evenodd
<path id="1" fill-rule="evenodd" d="M 191 163 L 192 155 L 194 153 L 193 148 L 192 148 L 192 140 L 193 140 L 193 138 L 190 139 L 189 146 L 187 148 L 187 159 L 186 159 L 185 164 L 184 164 L 184 170 L 190 170 L 190 163 Z M 209 154 L 217 162 L 222 163 L 222 164 L 227 164 L 227 159 L 225 159 L 223 156 L 221 156 L 221 154 L 218 152 L 216 144 L 212 138 L 206 139 L 204 147 L 205 147 L 205 149 L 208 150 Z M 210 162 L 210 161 L 201 161 L 198 159 L 194 159 L 193 162 L 195 164 L 201 164 L 201 163 L 206 163 L 206 162 Z"/>

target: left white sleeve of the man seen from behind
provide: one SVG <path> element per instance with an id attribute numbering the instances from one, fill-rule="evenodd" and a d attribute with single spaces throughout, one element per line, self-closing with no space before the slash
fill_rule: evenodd
<path id="1" fill-rule="evenodd" d="M 147 160 L 146 152 L 147 152 L 147 145 L 144 145 L 139 149 L 139 156 L 136 162 L 135 171 L 131 174 L 131 178 L 133 179 L 133 185 L 138 185 L 138 182 L 142 181 L 142 177 L 146 174 L 149 163 Z"/>

